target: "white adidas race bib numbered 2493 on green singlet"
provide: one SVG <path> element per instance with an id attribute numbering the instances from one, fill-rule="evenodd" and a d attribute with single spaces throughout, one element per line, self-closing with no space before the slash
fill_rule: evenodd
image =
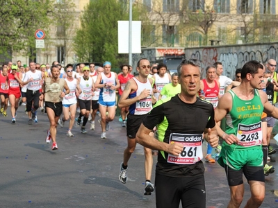
<path id="1" fill-rule="evenodd" d="M 238 134 L 236 135 L 240 142 L 238 145 L 250 147 L 261 145 L 263 141 L 263 132 L 261 130 L 261 121 L 251 125 L 238 124 Z"/>

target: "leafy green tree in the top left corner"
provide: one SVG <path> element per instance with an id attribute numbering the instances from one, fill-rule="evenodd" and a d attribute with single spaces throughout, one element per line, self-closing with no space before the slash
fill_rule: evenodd
<path id="1" fill-rule="evenodd" d="M 5 0 L 0 1 L 0 53 L 35 49 L 35 30 L 47 28 L 51 0 Z"/>

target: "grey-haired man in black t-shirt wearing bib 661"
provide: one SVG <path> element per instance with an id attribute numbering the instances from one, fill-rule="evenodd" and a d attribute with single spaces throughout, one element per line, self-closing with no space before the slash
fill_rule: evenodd
<path id="1" fill-rule="evenodd" d="M 181 93 L 160 100 L 144 119 L 136 141 L 159 150 L 156 164 L 156 207 L 206 207 L 202 134 L 218 146 L 213 105 L 197 97 L 200 62 L 183 60 L 178 67 Z M 149 136 L 158 126 L 158 140 Z"/>

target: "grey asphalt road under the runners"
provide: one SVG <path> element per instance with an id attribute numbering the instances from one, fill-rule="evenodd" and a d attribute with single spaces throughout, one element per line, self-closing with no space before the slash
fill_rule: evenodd
<path id="1" fill-rule="evenodd" d="M 45 144 L 49 123 L 47 115 L 38 113 L 39 123 L 28 125 L 24 106 L 19 107 L 17 123 L 0 116 L 0 207 L 155 207 L 154 194 L 144 196 L 144 155 L 142 146 L 131 156 L 128 181 L 118 179 L 126 131 L 119 121 L 111 122 L 107 139 L 100 139 L 101 130 L 80 128 L 66 137 L 67 128 L 58 127 L 58 150 Z M 66 122 L 66 126 L 68 123 Z M 277 148 L 275 141 L 271 141 Z M 272 156 L 277 172 L 265 177 L 265 200 L 261 207 L 278 207 L 278 153 Z M 154 167 L 156 156 L 154 155 Z M 205 163 L 207 207 L 227 207 L 229 187 L 224 169 Z M 153 169 L 154 170 L 154 169 Z M 154 171 L 152 182 L 154 182 Z M 245 198 L 250 196 L 245 180 Z"/>

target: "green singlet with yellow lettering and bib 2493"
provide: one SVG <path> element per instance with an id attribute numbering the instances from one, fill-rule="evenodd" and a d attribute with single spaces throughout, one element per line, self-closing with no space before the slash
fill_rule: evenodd
<path id="1" fill-rule="evenodd" d="M 222 147 L 229 146 L 232 149 L 250 148 L 260 146 L 263 135 L 261 127 L 261 116 L 263 114 L 263 104 L 257 89 L 254 89 L 254 98 L 250 101 L 243 101 L 234 94 L 232 96 L 231 112 L 226 115 L 227 135 L 236 135 L 240 142 L 238 144 L 227 144 L 223 141 Z"/>

